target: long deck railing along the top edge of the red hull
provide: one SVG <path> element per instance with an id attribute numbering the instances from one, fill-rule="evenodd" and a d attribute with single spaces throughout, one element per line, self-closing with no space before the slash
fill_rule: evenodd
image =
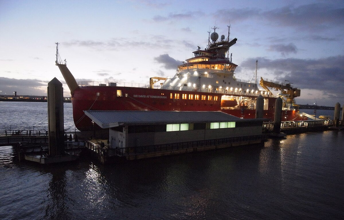
<path id="1" fill-rule="evenodd" d="M 101 82 L 101 81 L 82 81 L 78 82 L 78 85 L 81 87 L 86 87 L 86 86 L 118 86 L 118 87 L 136 87 L 136 88 L 150 88 L 148 84 L 141 84 L 141 83 L 122 83 L 122 82 Z M 259 90 L 260 92 L 247 92 L 244 90 L 237 90 L 237 91 L 230 91 L 225 88 L 194 88 L 192 86 L 159 86 L 159 85 L 154 85 L 154 89 L 166 89 L 166 90 L 171 90 L 171 91 L 193 91 L 193 92 L 207 92 L 207 93 L 215 93 L 215 94 L 228 94 L 228 95 L 238 95 L 238 96 L 259 96 L 262 95 L 263 97 L 276 97 L 273 96 L 270 92 L 267 92 L 265 90 Z"/>

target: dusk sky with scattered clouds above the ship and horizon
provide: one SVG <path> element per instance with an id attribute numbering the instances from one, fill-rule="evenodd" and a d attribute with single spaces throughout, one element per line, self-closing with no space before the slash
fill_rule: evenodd
<path id="1" fill-rule="evenodd" d="M 77 81 L 149 84 L 205 48 L 208 31 L 230 48 L 236 78 L 301 88 L 297 104 L 344 104 L 344 1 L 13 1 L 0 0 L 1 95 L 46 95 L 55 42 Z M 277 92 L 276 92 L 277 94 Z"/>

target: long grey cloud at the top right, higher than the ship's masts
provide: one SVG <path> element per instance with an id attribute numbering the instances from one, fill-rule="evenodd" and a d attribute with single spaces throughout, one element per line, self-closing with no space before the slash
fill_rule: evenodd
<path id="1" fill-rule="evenodd" d="M 344 23 L 344 8 L 333 7 L 330 3 L 305 4 L 298 7 L 288 5 L 269 11 L 256 8 L 223 9 L 215 12 L 215 17 L 228 22 L 228 14 L 230 19 L 236 22 L 260 19 L 274 26 L 288 26 L 312 32 L 331 28 L 343 29 Z"/>

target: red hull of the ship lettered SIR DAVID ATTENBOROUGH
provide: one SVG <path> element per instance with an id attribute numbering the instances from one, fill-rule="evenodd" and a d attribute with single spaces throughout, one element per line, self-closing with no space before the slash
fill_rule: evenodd
<path id="1" fill-rule="evenodd" d="M 117 86 L 79 87 L 72 97 L 74 123 L 80 131 L 99 129 L 99 127 L 93 127 L 97 125 L 84 114 L 85 110 L 223 111 L 240 118 L 255 118 L 256 110 L 254 109 L 222 108 L 223 95 L 230 96 L 231 94 Z M 256 94 L 241 95 L 252 99 L 257 98 Z M 233 96 L 238 97 L 240 94 Z M 264 110 L 264 118 L 273 120 L 276 97 L 265 96 L 265 99 L 268 99 L 269 104 L 268 110 Z M 297 110 L 282 111 L 282 121 L 292 120 L 305 119 L 299 116 Z"/>

